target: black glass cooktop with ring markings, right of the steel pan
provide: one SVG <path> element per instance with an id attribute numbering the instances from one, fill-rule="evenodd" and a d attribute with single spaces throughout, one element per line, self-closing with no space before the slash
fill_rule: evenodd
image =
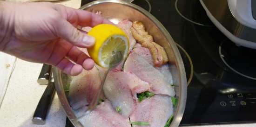
<path id="1" fill-rule="evenodd" d="M 82 0 L 82 5 L 90 1 L 94 0 Z M 256 122 L 256 50 L 226 38 L 199 0 L 133 3 L 151 10 L 192 59 L 193 78 L 180 126 Z M 191 63 L 180 52 L 189 78 Z"/>

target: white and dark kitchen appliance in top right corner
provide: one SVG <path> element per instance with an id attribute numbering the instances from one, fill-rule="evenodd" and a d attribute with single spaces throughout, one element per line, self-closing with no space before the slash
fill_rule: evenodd
<path id="1" fill-rule="evenodd" d="M 209 19 L 238 46 L 256 49 L 256 0 L 200 0 Z"/>

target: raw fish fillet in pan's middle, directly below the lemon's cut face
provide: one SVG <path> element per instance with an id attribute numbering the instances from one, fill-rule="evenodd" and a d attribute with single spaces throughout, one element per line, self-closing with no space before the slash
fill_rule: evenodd
<path id="1" fill-rule="evenodd" d="M 137 93 L 149 91 L 147 82 L 131 72 L 111 71 L 103 86 L 104 94 L 112 106 L 121 108 L 120 114 L 128 117 L 135 108 Z"/>

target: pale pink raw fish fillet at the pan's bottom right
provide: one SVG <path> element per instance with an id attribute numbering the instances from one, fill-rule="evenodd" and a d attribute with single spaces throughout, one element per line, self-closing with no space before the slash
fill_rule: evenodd
<path id="1" fill-rule="evenodd" d="M 133 127 L 164 127 L 173 114 L 173 104 L 170 96 L 154 95 L 138 103 L 130 116 L 130 121 L 148 122 L 150 126 Z"/>

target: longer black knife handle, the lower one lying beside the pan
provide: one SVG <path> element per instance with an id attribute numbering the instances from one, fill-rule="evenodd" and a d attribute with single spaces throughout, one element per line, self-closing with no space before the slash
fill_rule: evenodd
<path id="1" fill-rule="evenodd" d="M 34 111 L 33 115 L 33 123 L 34 124 L 45 124 L 45 120 L 47 117 L 48 109 L 51 106 L 53 97 L 55 94 L 55 86 L 54 86 L 54 79 L 51 78 L 51 81 L 48 83 L 43 95 L 41 96 L 41 99 Z"/>

